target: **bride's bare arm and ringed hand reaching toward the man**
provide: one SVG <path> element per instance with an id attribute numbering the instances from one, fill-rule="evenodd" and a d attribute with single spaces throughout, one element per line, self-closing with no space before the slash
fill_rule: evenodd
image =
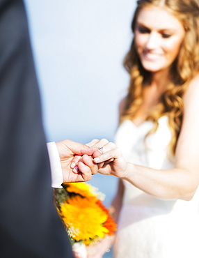
<path id="1" fill-rule="evenodd" d="M 174 169 L 157 170 L 125 162 L 114 144 L 104 146 L 104 154 L 96 162 L 115 158 L 100 169 L 102 174 L 112 174 L 125 179 L 137 188 L 155 197 L 184 199 L 193 197 L 199 183 L 199 76 L 193 79 L 184 94 L 184 117 L 177 142 Z M 100 143 L 97 143 L 100 145 Z"/>

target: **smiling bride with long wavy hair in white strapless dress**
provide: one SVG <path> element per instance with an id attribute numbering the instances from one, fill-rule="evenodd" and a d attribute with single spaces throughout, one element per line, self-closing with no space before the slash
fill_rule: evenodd
<path id="1" fill-rule="evenodd" d="M 99 172 L 120 178 L 110 207 L 118 232 L 89 258 L 112 244 L 116 258 L 199 257 L 198 10 L 198 0 L 138 1 L 116 145 L 88 144 L 103 147 Z"/>

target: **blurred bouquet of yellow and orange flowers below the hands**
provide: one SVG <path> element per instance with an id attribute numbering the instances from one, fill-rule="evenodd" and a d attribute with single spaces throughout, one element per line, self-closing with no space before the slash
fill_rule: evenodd
<path id="1" fill-rule="evenodd" d="M 55 190 L 54 199 L 74 251 L 77 245 L 93 245 L 116 232 L 116 223 L 102 204 L 102 192 L 88 183 L 62 186 Z"/>

